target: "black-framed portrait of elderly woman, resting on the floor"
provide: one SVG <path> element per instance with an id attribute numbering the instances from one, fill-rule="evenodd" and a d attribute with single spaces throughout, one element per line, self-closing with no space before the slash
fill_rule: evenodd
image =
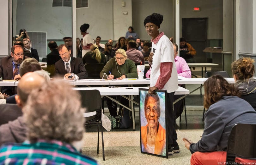
<path id="1" fill-rule="evenodd" d="M 167 92 L 139 88 L 141 153 L 168 158 Z"/>

